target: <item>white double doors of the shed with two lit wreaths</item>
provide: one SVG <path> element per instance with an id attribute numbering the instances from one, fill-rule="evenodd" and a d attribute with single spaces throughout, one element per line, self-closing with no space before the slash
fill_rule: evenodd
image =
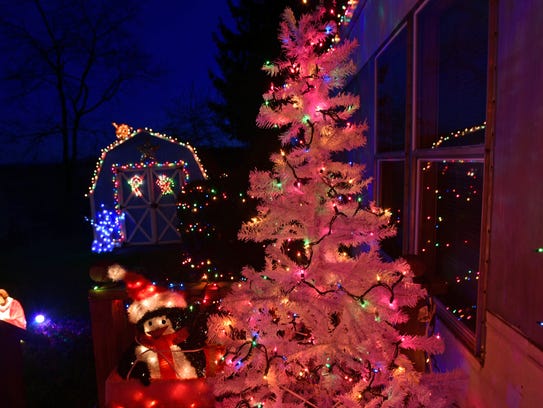
<path id="1" fill-rule="evenodd" d="M 116 174 L 116 201 L 124 214 L 124 243 L 179 242 L 177 194 L 186 179 L 183 166 L 122 167 Z"/>

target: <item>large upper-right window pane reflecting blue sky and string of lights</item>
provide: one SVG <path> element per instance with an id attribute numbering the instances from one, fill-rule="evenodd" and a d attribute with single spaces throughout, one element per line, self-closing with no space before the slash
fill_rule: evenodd
<path id="1" fill-rule="evenodd" d="M 483 143 L 488 0 L 434 0 L 417 15 L 419 146 Z"/>

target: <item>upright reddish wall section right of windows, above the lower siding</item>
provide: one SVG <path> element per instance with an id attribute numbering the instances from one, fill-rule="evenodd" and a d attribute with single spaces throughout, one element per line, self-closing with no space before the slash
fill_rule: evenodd
<path id="1" fill-rule="evenodd" d="M 543 2 L 499 2 L 488 310 L 543 348 Z M 517 302 L 512 302 L 517 299 Z"/>

